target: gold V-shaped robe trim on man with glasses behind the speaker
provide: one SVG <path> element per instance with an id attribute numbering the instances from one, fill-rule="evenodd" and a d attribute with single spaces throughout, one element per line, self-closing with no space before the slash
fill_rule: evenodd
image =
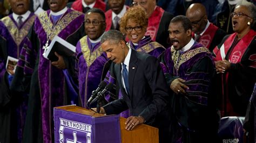
<path id="1" fill-rule="evenodd" d="M 102 48 L 99 46 L 95 51 L 91 51 L 87 42 L 87 35 L 79 40 L 82 53 L 87 64 L 87 67 L 90 67 L 92 63 L 103 53 Z"/>

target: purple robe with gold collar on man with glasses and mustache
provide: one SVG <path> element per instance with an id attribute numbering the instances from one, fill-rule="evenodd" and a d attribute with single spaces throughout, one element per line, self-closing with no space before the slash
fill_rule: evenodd
<path id="1" fill-rule="evenodd" d="M 76 50 L 79 96 L 83 108 L 86 108 L 86 103 L 91 97 L 92 91 L 98 88 L 104 65 L 108 59 L 106 53 L 103 52 L 100 47 L 100 42 L 92 48 L 91 42 L 87 36 L 79 40 Z"/>

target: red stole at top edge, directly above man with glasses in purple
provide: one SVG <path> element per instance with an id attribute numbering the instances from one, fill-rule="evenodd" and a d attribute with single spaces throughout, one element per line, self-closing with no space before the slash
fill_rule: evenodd
<path id="1" fill-rule="evenodd" d="M 71 8 L 73 10 L 77 10 L 77 11 L 83 12 L 82 1 L 84 1 L 84 0 L 76 0 L 75 2 L 73 2 Z M 100 1 L 100 0 L 96 0 L 96 3 L 93 6 L 93 8 L 98 8 L 98 9 L 103 10 L 103 12 L 105 12 L 106 11 L 106 4 L 104 2 L 102 2 L 102 1 Z"/>

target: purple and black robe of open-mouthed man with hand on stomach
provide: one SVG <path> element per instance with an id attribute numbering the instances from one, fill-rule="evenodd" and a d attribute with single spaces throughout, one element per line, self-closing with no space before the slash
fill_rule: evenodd
<path id="1" fill-rule="evenodd" d="M 203 137 L 217 134 L 218 115 L 212 93 L 215 66 L 211 52 L 197 42 L 185 52 L 171 49 L 159 56 L 166 82 L 170 87 L 172 81 L 182 78 L 188 87 L 186 94 L 170 91 L 170 106 L 176 117 L 172 118 L 176 120 L 171 125 L 175 127 L 172 135 L 179 137 L 181 129 L 183 140 L 190 141 L 191 138 L 185 135 L 188 132 L 200 133 Z"/>

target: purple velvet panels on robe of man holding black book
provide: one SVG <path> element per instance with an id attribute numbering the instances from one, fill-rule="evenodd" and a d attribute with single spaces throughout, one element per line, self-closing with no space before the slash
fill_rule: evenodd
<path id="1" fill-rule="evenodd" d="M 72 11 L 73 10 L 68 9 L 68 11 L 63 15 L 68 15 Z M 46 12 L 49 17 L 50 10 Z M 64 27 L 58 33 L 58 36 L 64 40 L 68 39 L 70 35 L 74 34 L 80 28 L 83 21 L 84 15 L 81 14 Z M 64 98 L 66 97 L 66 83 L 62 69 L 52 66 L 51 61 L 43 57 L 43 46 L 46 43 L 47 36 L 38 18 L 35 20 L 34 28 L 40 42 L 38 51 L 38 78 L 39 88 L 41 91 L 43 138 L 45 142 L 51 142 L 51 134 L 53 133 L 51 125 L 51 121 L 53 119 L 52 107 L 64 105 Z M 33 51 L 34 49 L 31 50 Z"/>

